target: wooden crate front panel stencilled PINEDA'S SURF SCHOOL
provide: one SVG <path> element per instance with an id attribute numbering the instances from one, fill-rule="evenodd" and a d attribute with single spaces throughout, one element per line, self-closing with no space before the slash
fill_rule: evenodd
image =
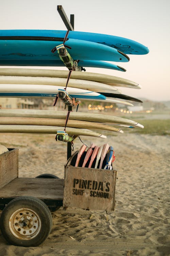
<path id="1" fill-rule="evenodd" d="M 64 207 L 114 210 L 116 171 L 66 166 Z"/>

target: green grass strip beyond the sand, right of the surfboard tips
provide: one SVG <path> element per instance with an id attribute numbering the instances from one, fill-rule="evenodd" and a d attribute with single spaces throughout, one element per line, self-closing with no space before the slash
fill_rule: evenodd
<path id="1" fill-rule="evenodd" d="M 137 120 L 135 120 L 137 121 Z M 126 129 L 126 132 L 135 132 L 151 135 L 170 135 L 170 119 L 167 120 L 140 120 L 137 121 L 144 125 L 144 129 Z M 124 130 L 124 129 L 123 129 Z"/>

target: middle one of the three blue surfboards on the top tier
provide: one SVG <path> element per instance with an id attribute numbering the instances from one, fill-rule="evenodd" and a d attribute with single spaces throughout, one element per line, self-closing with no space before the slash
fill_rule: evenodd
<path id="1" fill-rule="evenodd" d="M 59 54 L 51 50 L 63 43 L 63 38 L 43 38 L 38 36 L 14 36 L 12 33 L 0 30 L 0 59 L 24 60 L 34 63 L 35 60 L 60 60 Z M 11 34 L 11 35 L 10 35 Z M 106 60 L 129 62 L 129 57 L 119 50 L 95 42 L 68 39 L 67 46 L 73 60 Z M 13 63 L 14 65 L 14 63 Z"/>

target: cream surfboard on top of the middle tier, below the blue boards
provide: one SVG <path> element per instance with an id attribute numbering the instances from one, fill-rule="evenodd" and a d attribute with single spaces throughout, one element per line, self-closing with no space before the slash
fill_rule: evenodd
<path id="1" fill-rule="evenodd" d="M 58 77 L 67 78 L 68 70 L 55 70 L 55 69 L 26 69 L 26 68 L 0 68 L 1 76 L 29 76 L 29 77 Z M 74 71 L 71 73 L 70 78 L 94 81 L 104 83 L 112 86 L 128 87 L 134 89 L 141 89 L 141 86 L 133 81 L 115 77 L 111 75 L 104 75 L 92 72 Z"/>

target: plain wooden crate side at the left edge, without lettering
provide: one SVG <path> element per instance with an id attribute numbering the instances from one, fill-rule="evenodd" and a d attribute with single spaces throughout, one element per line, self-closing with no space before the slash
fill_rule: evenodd
<path id="1" fill-rule="evenodd" d="M 8 150 L 0 155 L 0 188 L 18 177 L 18 149 Z"/>

